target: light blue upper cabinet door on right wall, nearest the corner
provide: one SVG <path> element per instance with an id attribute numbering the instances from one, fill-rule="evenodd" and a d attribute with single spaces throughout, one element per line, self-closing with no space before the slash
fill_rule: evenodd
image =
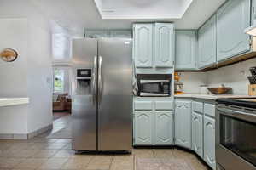
<path id="1" fill-rule="evenodd" d="M 216 16 L 207 20 L 198 31 L 198 67 L 216 63 Z"/>

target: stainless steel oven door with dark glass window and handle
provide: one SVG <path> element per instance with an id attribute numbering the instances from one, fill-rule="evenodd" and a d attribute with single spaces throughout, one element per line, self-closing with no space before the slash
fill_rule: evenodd
<path id="1" fill-rule="evenodd" d="M 256 114 L 253 111 L 218 105 L 216 160 L 225 170 L 256 169 Z"/>

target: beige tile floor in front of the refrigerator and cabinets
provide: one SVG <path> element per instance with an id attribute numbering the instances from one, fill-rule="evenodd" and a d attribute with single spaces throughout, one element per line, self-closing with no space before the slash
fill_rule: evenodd
<path id="1" fill-rule="evenodd" d="M 53 131 L 61 126 L 54 127 Z M 47 139 L 47 135 L 49 133 L 29 140 L 0 140 L 0 170 L 133 170 L 137 158 L 179 158 L 189 165 L 188 170 L 207 170 L 194 154 L 183 150 L 133 149 L 130 155 L 75 155 L 71 139 Z"/>

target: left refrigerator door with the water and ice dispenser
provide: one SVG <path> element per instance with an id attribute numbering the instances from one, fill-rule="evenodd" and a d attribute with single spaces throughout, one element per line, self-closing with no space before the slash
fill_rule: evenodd
<path id="1" fill-rule="evenodd" d="M 74 68 L 90 69 L 91 79 L 77 79 L 73 69 L 72 135 L 73 150 L 97 150 L 97 41 L 73 40 Z"/>

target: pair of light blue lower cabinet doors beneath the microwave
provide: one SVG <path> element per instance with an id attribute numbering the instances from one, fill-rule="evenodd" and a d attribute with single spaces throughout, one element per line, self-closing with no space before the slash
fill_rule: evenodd
<path id="1" fill-rule="evenodd" d="M 172 111 L 135 111 L 134 145 L 172 145 Z"/>

